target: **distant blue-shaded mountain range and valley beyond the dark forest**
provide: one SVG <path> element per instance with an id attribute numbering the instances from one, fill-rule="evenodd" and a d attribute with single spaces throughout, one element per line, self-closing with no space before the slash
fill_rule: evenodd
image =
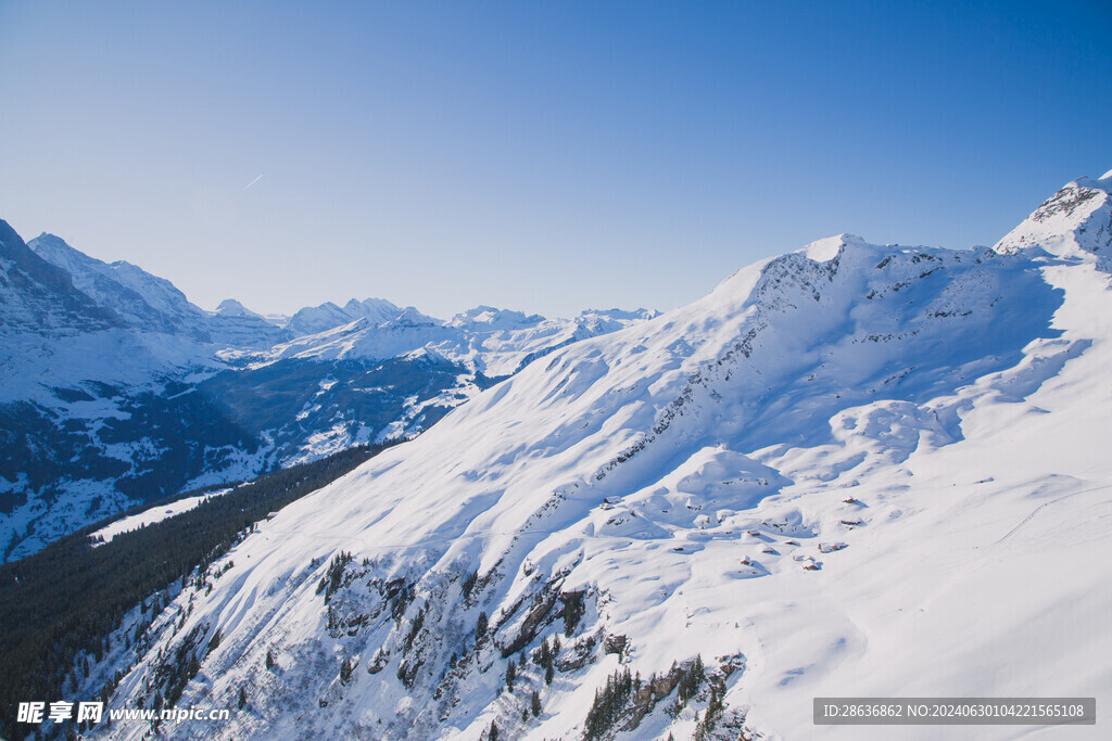
<path id="1" fill-rule="evenodd" d="M 0 552 L 137 502 L 414 434 L 489 375 L 641 314 L 445 322 L 381 299 L 216 311 L 0 222 Z M 517 316 L 517 312 L 503 312 Z M 647 312 L 642 312 L 648 316 Z"/>

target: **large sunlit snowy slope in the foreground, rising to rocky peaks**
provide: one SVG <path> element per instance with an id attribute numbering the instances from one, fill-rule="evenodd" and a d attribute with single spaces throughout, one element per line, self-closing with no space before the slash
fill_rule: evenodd
<path id="1" fill-rule="evenodd" d="M 822 240 L 533 362 L 260 524 L 112 707 L 191 678 L 241 709 L 175 738 L 934 739 L 812 699 L 1095 695 L 1096 738 L 1110 190 L 994 250 Z"/>

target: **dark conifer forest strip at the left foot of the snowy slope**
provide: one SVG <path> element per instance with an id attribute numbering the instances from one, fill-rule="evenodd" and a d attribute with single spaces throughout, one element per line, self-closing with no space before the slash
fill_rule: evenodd
<path id="1" fill-rule="evenodd" d="M 269 512 L 320 489 L 390 444 L 350 448 L 267 473 L 95 548 L 90 533 L 107 524 L 100 522 L 0 565 L 0 738 L 20 738 L 29 731 L 16 722 L 20 702 L 77 699 L 63 698 L 62 692 L 76 684 L 79 654 L 85 651 L 99 660 L 108 649 L 108 637 L 130 609 L 195 569 L 203 572 Z M 100 698 L 80 698 L 95 699 Z"/>

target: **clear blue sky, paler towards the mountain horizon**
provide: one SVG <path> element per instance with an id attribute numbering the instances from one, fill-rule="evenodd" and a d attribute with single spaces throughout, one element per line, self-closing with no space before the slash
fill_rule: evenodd
<path id="1" fill-rule="evenodd" d="M 262 312 L 671 309 L 1112 168 L 1112 3 L 0 0 L 0 218 Z"/>

